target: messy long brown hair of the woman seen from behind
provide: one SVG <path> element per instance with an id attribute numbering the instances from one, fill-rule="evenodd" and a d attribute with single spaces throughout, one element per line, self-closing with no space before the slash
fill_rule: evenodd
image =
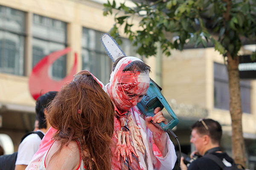
<path id="1" fill-rule="evenodd" d="M 61 146 L 79 140 L 87 169 L 111 170 L 114 106 L 91 75 L 76 75 L 61 88 L 47 111 L 49 123 L 58 130 L 53 138 Z"/>

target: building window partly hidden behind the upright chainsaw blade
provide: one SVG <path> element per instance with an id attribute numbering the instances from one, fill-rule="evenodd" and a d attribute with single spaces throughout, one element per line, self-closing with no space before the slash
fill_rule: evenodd
<path id="1" fill-rule="evenodd" d="M 104 84 L 109 82 L 112 60 L 108 57 L 100 37 L 103 32 L 83 28 L 82 32 L 82 69 L 94 74 Z M 134 49 L 128 39 L 122 38 L 122 50 L 127 56 L 135 56 Z"/>

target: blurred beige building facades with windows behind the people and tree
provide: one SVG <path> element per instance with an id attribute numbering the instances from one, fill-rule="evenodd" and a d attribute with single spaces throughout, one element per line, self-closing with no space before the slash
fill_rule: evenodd
<path id="1" fill-rule="evenodd" d="M 113 17 L 103 16 L 105 0 L 1 0 L 0 1 L 0 144 L 6 154 L 17 151 L 21 137 L 34 129 L 35 100 L 29 92 L 29 75 L 44 56 L 66 47 L 72 51 L 56 60 L 48 73 L 55 81 L 64 78 L 78 54 L 78 69 L 89 70 L 108 83 L 112 61 L 100 37 L 110 31 Z M 135 19 L 136 20 L 136 19 Z M 189 143 L 190 126 L 211 118 L 223 127 L 222 148 L 231 155 L 231 118 L 227 69 L 214 47 L 186 46 L 171 57 L 161 51 L 155 57 L 136 54 L 125 35 L 122 49 L 151 66 L 150 77 L 163 88 L 163 95 L 180 123 L 175 133 L 182 152 L 194 150 Z M 249 58 L 256 45 L 239 51 Z M 251 61 L 248 61 L 251 62 Z M 255 70 L 256 67 L 252 65 Z M 243 135 L 247 163 L 256 169 L 256 74 L 241 77 Z M 168 115 L 166 114 L 168 117 Z"/>

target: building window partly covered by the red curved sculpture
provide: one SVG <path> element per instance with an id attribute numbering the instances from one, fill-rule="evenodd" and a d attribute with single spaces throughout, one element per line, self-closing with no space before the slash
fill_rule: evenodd
<path id="1" fill-rule="evenodd" d="M 62 50 L 67 46 L 67 23 L 42 17 L 33 16 L 32 66 L 35 66 L 44 56 L 54 51 Z M 51 67 L 50 75 L 53 79 L 62 79 L 66 76 L 66 55 L 57 59 Z"/>

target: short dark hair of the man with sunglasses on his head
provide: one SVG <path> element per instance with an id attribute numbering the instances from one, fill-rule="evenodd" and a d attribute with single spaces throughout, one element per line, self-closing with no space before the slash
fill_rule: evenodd
<path id="1" fill-rule="evenodd" d="M 203 121 L 206 127 L 208 127 L 208 130 L 205 127 Z M 215 120 L 212 120 L 212 119 L 203 119 L 202 121 L 198 120 L 192 125 L 191 129 L 192 130 L 196 129 L 197 133 L 201 135 L 208 135 L 211 138 L 212 143 L 220 144 L 221 142 L 222 128 L 219 122 Z"/>

